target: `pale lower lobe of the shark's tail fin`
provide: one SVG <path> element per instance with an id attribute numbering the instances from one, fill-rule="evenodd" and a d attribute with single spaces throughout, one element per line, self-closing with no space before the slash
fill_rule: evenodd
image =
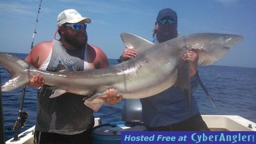
<path id="1" fill-rule="evenodd" d="M 30 81 L 29 77 L 27 76 L 13 76 L 12 79 L 7 81 L 2 88 L 2 92 L 10 92 L 11 90 L 15 90 L 16 88 L 19 88 L 20 86 L 28 83 Z"/>

